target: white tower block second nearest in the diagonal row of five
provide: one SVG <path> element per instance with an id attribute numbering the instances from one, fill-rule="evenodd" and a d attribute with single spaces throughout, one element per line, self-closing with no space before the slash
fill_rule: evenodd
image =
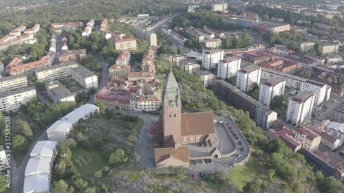
<path id="1" fill-rule="evenodd" d="M 259 102 L 270 106 L 272 98 L 277 95 L 283 95 L 286 87 L 286 80 L 284 78 L 274 77 L 270 80 L 260 83 Z"/>

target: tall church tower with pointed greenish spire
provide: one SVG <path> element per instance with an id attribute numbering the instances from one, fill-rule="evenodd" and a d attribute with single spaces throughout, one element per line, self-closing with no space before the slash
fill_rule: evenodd
<path id="1" fill-rule="evenodd" d="M 162 117 L 164 120 L 162 130 L 164 134 L 164 145 L 171 135 L 173 135 L 175 141 L 180 143 L 182 133 L 182 102 L 180 100 L 177 80 L 175 80 L 172 71 L 166 80 L 163 100 Z"/>

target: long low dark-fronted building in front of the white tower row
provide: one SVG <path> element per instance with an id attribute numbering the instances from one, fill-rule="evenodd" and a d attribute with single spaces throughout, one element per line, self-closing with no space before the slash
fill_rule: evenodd
<path id="1" fill-rule="evenodd" d="M 230 106 L 234 106 L 237 109 L 248 111 L 250 117 L 255 119 L 255 114 L 258 106 L 261 104 L 257 100 L 246 95 L 244 92 L 234 87 L 232 84 L 224 80 L 216 81 L 216 92 L 219 94 Z"/>

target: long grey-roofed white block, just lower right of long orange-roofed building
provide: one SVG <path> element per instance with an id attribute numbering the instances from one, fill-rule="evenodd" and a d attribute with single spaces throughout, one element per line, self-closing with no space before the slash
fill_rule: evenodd
<path id="1" fill-rule="evenodd" d="M 35 69 L 36 80 L 42 80 L 43 82 L 50 82 L 62 78 L 72 76 L 72 68 L 78 67 L 75 62 L 61 63 L 58 65 L 52 65 L 50 67 L 41 67 Z"/>

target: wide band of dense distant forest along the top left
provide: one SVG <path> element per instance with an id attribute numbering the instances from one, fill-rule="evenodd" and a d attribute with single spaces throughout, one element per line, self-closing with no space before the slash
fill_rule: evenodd
<path id="1" fill-rule="evenodd" d="M 34 2 L 47 2 L 47 0 L 32 0 Z M 51 2 L 54 0 L 50 0 Z M 0 0 L 0 3 L 8 0 Z M 23 3 L 25 1 L 12 0 Z M 65 0 L 51 5 L 43 5 L 38 8 L 28 10 L 18 10 L 11 12 L 0 12 L 0 34 L 6 34 L 14 27 L 34 23 L 41 24 L 47 28 L 51 23 L 67 21 L 89 21 L 94 19 L 119 19 L 120 16 L 136 16 L 137 14 L 150 14 L 153 16 L 172 15 L 177 12 L 186 12 L 188 5 L 179 0 Z"/>

